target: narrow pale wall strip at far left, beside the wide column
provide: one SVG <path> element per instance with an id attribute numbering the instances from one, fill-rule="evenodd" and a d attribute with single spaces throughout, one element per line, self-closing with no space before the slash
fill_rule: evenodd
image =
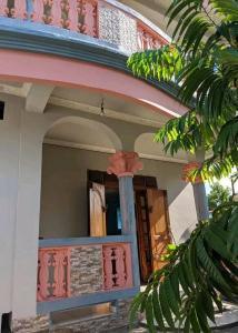
<path id="1" fill-rule="evenodd" d="M 7 99 L 0 121 L 0 314 L 11 311 L 19 128 L 19 102 Z"/>

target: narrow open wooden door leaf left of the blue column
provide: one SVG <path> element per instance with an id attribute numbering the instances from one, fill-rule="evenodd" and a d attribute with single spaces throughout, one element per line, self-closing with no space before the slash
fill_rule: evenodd
<path id="1" fill-rule="evenodd" d="M 92 183 L 89 190 L 90 202 L 90 236 L 107 235 L 105 186 Z"/>

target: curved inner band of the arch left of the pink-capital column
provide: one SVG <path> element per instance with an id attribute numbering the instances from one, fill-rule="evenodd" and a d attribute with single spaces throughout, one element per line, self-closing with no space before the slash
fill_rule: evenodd
<path id="1" fill-rule="evenodd" d="M 122 143 L 121 143 L 120 138 L 109 127 L 107 127 L 103 123 L 97 122 L 95 120 L 85 119 L 85 118 L 80 118 L 80 117 L 76 117 L 76 115 L 65 115 L 65 117 L 53 121 L 48 127 L 47 131 L 44 132 L 44 138 L 50 132 L 50 130 L 52 130 L 63 123 L 83 125 L 87 129 L 93 130 L 96 135 L 101 132 L 101 133 L 106 134 L 107 139 L 109 140 L 109 142 L 111 143 L 111 145 L 113 147 L 113 149 L 116 151 L 122 149 Z"/>

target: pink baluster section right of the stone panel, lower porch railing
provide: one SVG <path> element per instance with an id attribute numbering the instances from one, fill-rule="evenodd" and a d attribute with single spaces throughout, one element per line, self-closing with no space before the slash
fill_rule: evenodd
<path id="1" fill-rule="evenodd" d="M 105 290 L 132 286 L 130 244 L 102 246 Z"/>

